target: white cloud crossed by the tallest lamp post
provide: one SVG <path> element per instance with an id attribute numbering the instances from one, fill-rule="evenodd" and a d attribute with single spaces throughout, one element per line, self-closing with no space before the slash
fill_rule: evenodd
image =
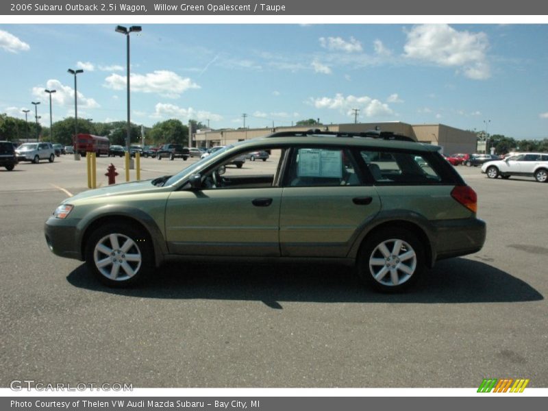
<path id="1" fill-rule="evenodd" d="M 129 79 L 132 92 L 151 92 L 164 97 L 179 97 L 190 88 L 200 88 L 189 78 L 182 78 L 173 71 L 158 70 L 145 75 L 132 74 Z M 125 90 L 126 77 L 119 74 L 111 74 L 105 79 L 105 87 L 113 90 Z"/>

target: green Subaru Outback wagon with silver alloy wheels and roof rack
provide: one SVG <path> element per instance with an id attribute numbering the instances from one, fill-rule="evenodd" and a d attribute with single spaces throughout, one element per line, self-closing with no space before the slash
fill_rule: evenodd
<path id="1" fill-rule="evenodd" d="M 438 147 L 407 140 L 310 130 L 238 142 L 175 175 L 66 199 L 47 244 L 109 286 L 168 259 L 239 257 L 347 262 L 377 290 L 403 290 L 486 236 L 474 190 Z M 230 165 L 259 150 L 271 161 Z"/>

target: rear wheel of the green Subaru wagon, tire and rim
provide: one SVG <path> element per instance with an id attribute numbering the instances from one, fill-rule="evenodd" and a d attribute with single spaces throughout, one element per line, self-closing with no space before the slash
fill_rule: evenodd
<path id="1" fill-rule="evenodd" d="M 366 238 L 358 256 L 358 277 L 381 292 L 405 291 L 419 281 L 424 247 L 412 232 L 391 227 Z"/>

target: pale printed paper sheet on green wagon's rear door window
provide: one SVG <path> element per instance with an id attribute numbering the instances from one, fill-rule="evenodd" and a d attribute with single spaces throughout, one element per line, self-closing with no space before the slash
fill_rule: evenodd
<path id="1" fill-rule="evenodd" d="M 299 177 L 343 177 L 340 150 L 299 149 Z"/>

